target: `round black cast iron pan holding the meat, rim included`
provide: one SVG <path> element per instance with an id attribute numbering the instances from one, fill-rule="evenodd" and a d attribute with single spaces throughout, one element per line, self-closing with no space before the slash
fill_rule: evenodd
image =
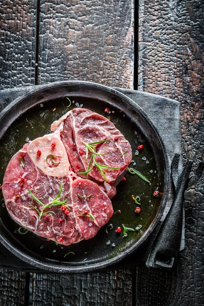
<path id="1" fill-rule="evenodd" d="M 66 108 L 69 104 L 66 97 L 74 101 L 69 108 Z M 149 179 L 150 184 L 127 173 L 126 182 L 119 183 L 112 199 L 115 213 L 108 224 L 113 224 L 113 230 L 107 234 L 104 226 L 94 238 L 67 247 L 31 232 L 19 235 L 19 226 L 9 217 L 1 193 L 0 241 L 25 262 L 60 273 L 105 268 L 139 248 L 157 226 L 169 191 L 169 166 L 164 145 L 147 115 L 133 100 L 115 89 L 81 81 L 44 85 L 18 97 L 0 114 L 1 183 L 11 157 L 28 138 L 33 140 L 50 133 L 50 124 L 76 106 L 109 117 L 131 143 L 134 167 Z M 110 114 L 104 112 L 107 107 Z M 144 148 L 135 155 L 139 144 Z M 158 197 L 153 194 L 155 190 L 159 191 Z M 140 214 L 135 213 L 136 203 L 132 195 L 141 198 Z M 122 224 L 136 228 L 136 231 L 128 232 L 127 237 L 122 238 L 122 234 L 115 232 L 115 228 Z M 64 257 L 68 252 L 74 254 Z"/>

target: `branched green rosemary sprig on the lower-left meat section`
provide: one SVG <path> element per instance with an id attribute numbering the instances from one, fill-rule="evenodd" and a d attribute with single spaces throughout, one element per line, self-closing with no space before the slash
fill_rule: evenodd
<path id="1" fill-rule="evenodd" d="M 53 207 L 53 206 L 59 206 L 59 205 L 61 206 L 61 205 L 64 205 L 67 209 L 70 210 L 70 208 L 66 205 L 67 199 L 64 200 L 64 201 L 60 201 L 61 192 L 62 192 L 62 187 L 63 187 L 63 185 L 62 185 L 62 182 L 61 182 L 61 187 L 60 187 L 60 191 L 59 191 L 58 195 L 57 195 L 52 201 L 50 201 L 49 203 L 47 203 L 46 205 L 44 205 L 44 204 L 43 204 L 43 203 L 42 203 L 42 202 L 41 202 L 32 192 L 31 192 L 31 190 L 28 189 L 28 192 L 30 193 L 30 195 L 32 196 L 32 198 L 33 198 L 36 202 L 38 202 L 40 205 L 43 206 L 41 212 L 40 212 L 35 206 L 33 206 L 33 205 L 29 205 L 29 206 L 28 206 L 28 207 L 30 207 L 30 206 L 33 207 L 33 208 L 38 212 L 38 214 L 39 214 L 39 220 L 41 219 L 41 217 L 42 217 L 43 215 L 48 214 L 48 213 L 52 213 L 52 214 L 56 215 L 56 213 L 55 213 L 54 211 L 47 211 L 47 212 L 44 212 L 45 209 L 50 208 L 50 207 Z"/>

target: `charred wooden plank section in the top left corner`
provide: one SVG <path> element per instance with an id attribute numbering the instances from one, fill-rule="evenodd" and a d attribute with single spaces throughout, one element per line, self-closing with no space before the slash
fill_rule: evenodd
<path id="1" fill-rule="evenodd" d="M 0 89 L 35 84 L 36 1 L 0 0 Z"/>

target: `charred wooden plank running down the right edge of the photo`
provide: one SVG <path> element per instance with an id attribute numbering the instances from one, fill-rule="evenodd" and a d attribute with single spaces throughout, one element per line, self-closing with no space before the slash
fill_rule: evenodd
<path id="1" fill-rule="evenodd" d="M 183 157 L 194 161 L 193 170 L 204 156 L 203 9 L 199 0 L 141 0 L 139 5 L 139 89 L 181 102 Z M 175 295 L 169 302 L 173 306 L 204 305 L 203 184 L 202 176 L 185 193 L 186 248 L 177 264 Z M 159 273 L 149 272 L 150 284 Z M 165 280 L 161 277 L 160 284 Z M 150 290 L 146 283 L 142 292 Z M 163 294 L 157 294 L 157 299 L 161 301 Z"/>

